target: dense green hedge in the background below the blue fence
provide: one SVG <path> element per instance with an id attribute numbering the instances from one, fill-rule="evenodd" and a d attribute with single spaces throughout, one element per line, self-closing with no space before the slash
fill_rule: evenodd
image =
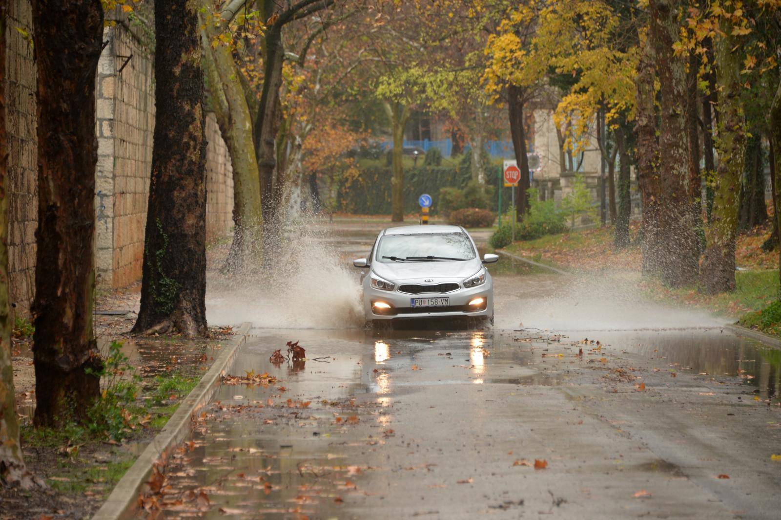
<path id="1" fill-rule="evenodd" d="M 488 167 L 487 184 L 499 185 L 501 167 Z M 358 178 L 344 180 L 338 188 L 337 211 L 360 215 L 387 215 L 391 213 L 391 168 L 364 167 Z M 472 178 L 469 167 L 459 166 L 420 166 L 405 170 L 404 210 L 405 213 L 418 213 L 418 197 L 428 193 L 433 198 L 431 213 L 437 214 L 437 195 L 440 188 L 464 188 Z M 495 192 L 494 192 L 495 193 Z M 510 188 L 502 193 L 502 206 L 508 207 Z M 506 198 L 505 198 L 506 197 Z M 492 198 L 490 210 L 496 210 L 496 196 Z"/>

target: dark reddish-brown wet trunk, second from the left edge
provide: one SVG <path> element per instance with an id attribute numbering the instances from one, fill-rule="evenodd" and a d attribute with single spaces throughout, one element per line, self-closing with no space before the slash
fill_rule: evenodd
<path id="1" fill-rule="evenodd" d="M 53 23 L 52 20 L 57 20 Z M 38 70 L 38 228 L 35 267 L 35 424 L 84 420 L 101 368 L 95 299 L 95 72 L 100 0 L 33 2 Z"/>

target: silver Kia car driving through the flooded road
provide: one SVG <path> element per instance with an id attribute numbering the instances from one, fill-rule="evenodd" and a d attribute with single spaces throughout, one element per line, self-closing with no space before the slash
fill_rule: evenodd
<path id="1" fill-rule="evenodd" d="M 362 275 L 366 321 L 469 317 L 494 322 L 494 286 L 472 237 L 458 226 L 387 228 L 369 258 L 353 260 Z"/>

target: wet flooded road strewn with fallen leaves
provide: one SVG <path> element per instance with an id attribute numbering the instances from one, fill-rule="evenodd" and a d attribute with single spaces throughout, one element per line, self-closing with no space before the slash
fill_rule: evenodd
<path id="1" fill-rule="evenodd" d="M 373 240 L 349 238 L 330 241 L 345 264 Z M 305 309 L 261 306 L 231 374 L 268 376 L 220 387 L 162 515 L 778 518 L 781 350 L 604 279 L 491 271 L 484 331 L 301 327 L 279 317 Z M 289 341 L 307 359 L 272 364 Z"/>

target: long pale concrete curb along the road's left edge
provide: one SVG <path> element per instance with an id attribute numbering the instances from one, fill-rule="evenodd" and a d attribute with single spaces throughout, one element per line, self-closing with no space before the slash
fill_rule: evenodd
<path id="1" fill-rule="evenodd" d="M 219 353 L 212 367 L 201 378 L 198 385 L 184 398 L 163 429 L 152 439 L 152 442 L 130 466 L 122 479 L 116 483 L 109 498 L 98 509 L 92 520 L 116 520 L 134 516 L 138 493 L 152 473 L 152 465 L 161 458 L 167 457 L 191 432 L 195 413 L 212 399 L 216 392 L 215 383 L 219 380 L 219 376 L 230 367 L 239 347 L 247 341 L 250 328 L 251 324 L 249 323 L 241 324 L 230 342 L 223 346 L 222 352 Z"/>

